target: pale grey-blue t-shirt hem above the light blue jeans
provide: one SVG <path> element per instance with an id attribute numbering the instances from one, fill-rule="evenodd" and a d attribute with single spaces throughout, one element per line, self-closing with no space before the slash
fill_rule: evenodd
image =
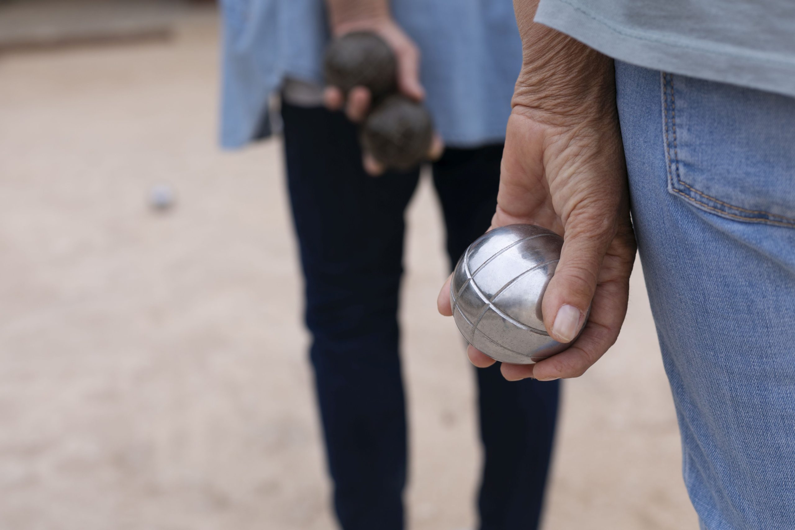
<path id="1" fill-rule="evenodd" d="M 795 0 L 541 0 L 535 20 L 626 63 L 795 96 Z"/>

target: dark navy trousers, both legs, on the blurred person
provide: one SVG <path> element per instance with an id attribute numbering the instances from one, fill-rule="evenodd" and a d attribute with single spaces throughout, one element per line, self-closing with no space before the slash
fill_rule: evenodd
<path id="1" fill-rule="evenodd" d="M 356 128 L 343 114 L 286 103 L 281 114 L 335 511 L 343 530 L 401 530 L 407 451 L 397 300 L 404 212 L 419 172 L 367 176 Z M 501 157 L 502 145 L 447 149 L 433 164 L 451 268 L 491 222 Z M 532 530 L 558 381 L 508 382 L 498 366 L 479 369 L 477 381 L 480 528 Z"/>

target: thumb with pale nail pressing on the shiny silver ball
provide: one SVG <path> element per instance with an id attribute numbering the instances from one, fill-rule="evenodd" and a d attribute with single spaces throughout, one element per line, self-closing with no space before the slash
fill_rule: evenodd
<path id="1" fill-rule="evenodd" d="M 582 330 L 614 235 L 613 223 L 569 216 L 560 261 L 541 303 L 544 326 L 557 342 L 572 342 Z"/>

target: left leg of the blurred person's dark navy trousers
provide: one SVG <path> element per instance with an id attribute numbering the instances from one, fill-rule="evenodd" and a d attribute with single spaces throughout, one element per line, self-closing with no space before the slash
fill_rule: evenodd
<path id="1" fill-rule="evenodd" d="M 282 117 L 336 513 L 344 530 L 399 530 L 406 427 L 397 292 L 418 173 L 367 176 L 342 114 L 285 103 Z"/>

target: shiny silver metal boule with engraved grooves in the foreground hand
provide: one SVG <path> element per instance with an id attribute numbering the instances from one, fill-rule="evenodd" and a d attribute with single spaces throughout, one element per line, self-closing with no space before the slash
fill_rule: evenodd
<path id="1" fill-rule="evenodd" d="M 450 304 L 464 339 L 502 362 L 531 364 L 560 353 L 544 328 L 541 300 L 555 273 L 563 238 L 533 225 L 495 228 L 458 261 Z"/>

